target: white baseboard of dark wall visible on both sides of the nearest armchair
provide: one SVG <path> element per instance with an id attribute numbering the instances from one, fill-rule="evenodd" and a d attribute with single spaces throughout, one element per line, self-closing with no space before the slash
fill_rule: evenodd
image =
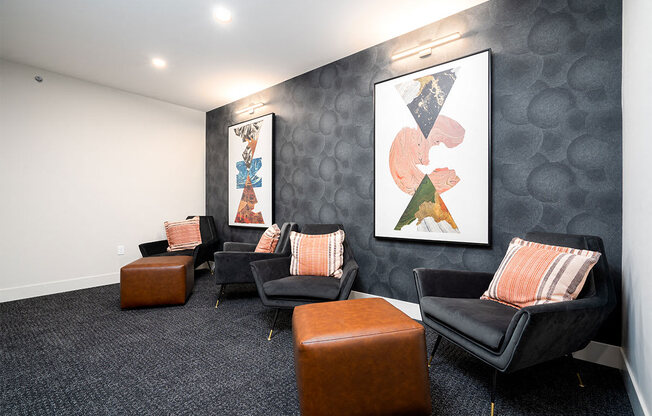
<path id="1" fill-rule="evenodd" d="M 403 311 L 407 316 L 412 319 L 421 320 L 421 311 L 419 310 L 419 304 L 406 302 L 404 300 L 386 298 L 383 296 L 371 295 L 369 293 L 356 292 L 355 290 L 351 291 L 349 299 L 361 299 L 361 298 L 383 298 L 397 309 Z M 589 361 L 595 364 L 606 365 L 607 367 L 617 368 L 622 370 L 624 368 L 623 356 L 621 353 L 620 347 L 615 345 L 603 344 L 601 342 L 591 341 L 591 343 L 584 348 L 583 350 L 577 351 L 573 354 L 573 357 Z"/>

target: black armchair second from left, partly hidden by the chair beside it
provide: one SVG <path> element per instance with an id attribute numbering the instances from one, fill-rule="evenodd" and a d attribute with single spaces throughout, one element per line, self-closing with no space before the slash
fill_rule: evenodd
<path id="1" fill-rule="evenodd" d="M 236 243 L 227 241 L 222 251 L 214 254 L 215 283 L 220 285 L 220 292 L 215 307 L 220 303 L 224 288 L 230 283 L 254 283 L 249 263 L 256 260 L 267 260 L 290 255 L 290 232 L 297 231 L 298 225 L 286 222 L 281 227 L 281 235 L 273 253 L 256 253 L 256 243 Z"/>

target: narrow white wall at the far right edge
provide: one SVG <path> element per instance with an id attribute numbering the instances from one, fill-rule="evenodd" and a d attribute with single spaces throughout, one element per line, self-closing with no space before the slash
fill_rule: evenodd
<path id="1" fill-rule="evenodd" d="M 651 21 L 650 0 L 623 1 L 623 351 L 637 414 L 652 410 Z"/>

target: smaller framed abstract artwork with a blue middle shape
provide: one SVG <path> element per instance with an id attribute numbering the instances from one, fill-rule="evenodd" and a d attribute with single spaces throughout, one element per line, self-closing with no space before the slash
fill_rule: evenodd
<path id="1" fill-rule="evenodd" d="M 229 126 L 229 225 L 274 221 L 274 113 Z"/>

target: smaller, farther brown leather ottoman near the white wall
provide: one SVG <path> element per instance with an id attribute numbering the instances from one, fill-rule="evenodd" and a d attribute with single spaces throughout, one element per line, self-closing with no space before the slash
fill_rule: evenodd
<path id="1" fill-rule="evenodd" d="M 183 305 L 195 284 L 191 256 L 144 257 L 120 269 L 120 307 Z"/>

